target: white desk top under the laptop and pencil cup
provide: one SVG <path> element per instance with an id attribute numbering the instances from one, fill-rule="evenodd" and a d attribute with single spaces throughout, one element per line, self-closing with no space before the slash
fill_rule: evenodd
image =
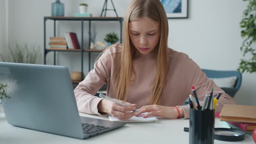
<path id="1" fill-rule="evenodd" d="M 87 116 L 100 118 L 95 115 Z M 0 144 L 188 144 L 189 133 L 183 131 L 184 127 L 189 127 L 188 119 L 160 119 L 158 123 L 126 124 L 122 128 L 80 140 L 12 126 L 7 123 L 4 114 L 0 113 Z M 228 128 L 228 124 L 216 118 L 215 128 L 220 127 Z M 243 141 L 214 140 L 214 144 L 254 144 L 254 142 L 252 136 L 246 134 Z"/>

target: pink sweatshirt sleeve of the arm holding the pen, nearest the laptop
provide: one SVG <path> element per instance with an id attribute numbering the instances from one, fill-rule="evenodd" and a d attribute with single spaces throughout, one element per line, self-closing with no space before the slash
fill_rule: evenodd
<path id="1" fill-rule="evenodd" d="M 110 75 L 111 56 L 106 56 L 104 53 L 95 62 L 94 69 L 89 72 L 74 90 L 75 100 L 80 112 L 101 115 L 98 112 L 98 103 L 102 98 L 94 95 L 102 85 L 107 84 L 107 79 Z"/>

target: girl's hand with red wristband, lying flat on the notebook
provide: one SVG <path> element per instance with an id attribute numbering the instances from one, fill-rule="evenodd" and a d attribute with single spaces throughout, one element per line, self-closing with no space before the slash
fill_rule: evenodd
<path id="1" fill-rule="evenodd" d="M 180 117 L 184 117 L 184 111 L 182 108 L 177 107 L 180 111 Z M 179 116 L 179 113 L 174 107 L 167 107 L 161 105 L 146 105 L 138 109 L 140 113 L 135 115 L 136 117 L 144 112 L 148 112 L 147 115 L 144 115 L 143 118 L 147 118 L 149 116 L 158 116 L 162 118 L 176 119 Z"/>

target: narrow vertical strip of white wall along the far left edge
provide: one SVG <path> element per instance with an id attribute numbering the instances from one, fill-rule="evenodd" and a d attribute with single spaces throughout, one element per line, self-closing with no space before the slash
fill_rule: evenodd
<path id="1" fill-rule="evenodd" d="M 0 53 L 6 47 L 6 0 L 0 0 Z"/>

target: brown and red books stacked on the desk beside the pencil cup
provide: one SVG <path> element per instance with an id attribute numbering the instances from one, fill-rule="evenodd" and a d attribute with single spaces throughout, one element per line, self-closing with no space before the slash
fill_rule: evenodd
<path id="1" fill-rule="evenodd" d="M 221 112 L 215 116 L 220 121 L 226 121 L 243 131 L 253 131 L 256 128 L 256 106 L 251 105 L 223 105 Z"/>

